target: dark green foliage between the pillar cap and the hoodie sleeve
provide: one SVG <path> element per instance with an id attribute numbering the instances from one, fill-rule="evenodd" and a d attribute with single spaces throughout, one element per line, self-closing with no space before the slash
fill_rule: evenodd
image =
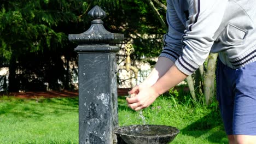
<path id="1" fill-rule="evenodd" d="M 146 1 L 121 1 L 113 9 L 106 8 L 106 12 L 104 26 L 111 32 L 124 33 L 126 41 L 133 39 L 135 53 L 132 53 L 132 59 L 159 56 L 166 31 Z M 166 11 L 160 12 L 165 17 Z"/>

